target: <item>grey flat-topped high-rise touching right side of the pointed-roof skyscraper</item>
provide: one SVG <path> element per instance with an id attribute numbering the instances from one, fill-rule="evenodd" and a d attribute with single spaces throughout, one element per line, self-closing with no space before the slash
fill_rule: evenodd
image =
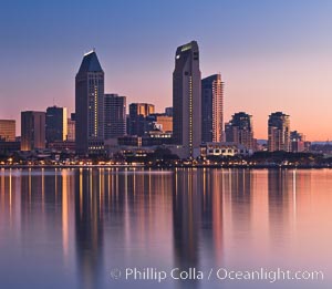
<path id="1" fill-rule="evenodd" d="M 126 96 L 105 94 L 105 140 L 124 136 L 126 134 Z"/>

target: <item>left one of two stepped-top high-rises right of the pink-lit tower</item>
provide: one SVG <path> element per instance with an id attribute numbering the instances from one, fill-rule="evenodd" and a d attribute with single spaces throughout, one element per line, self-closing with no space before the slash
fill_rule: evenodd
<path id="1" fill-rule="evenodd" d="M 243 145 L 248 149 L 256 149 L 253 138 L 252 116 L 239 112 L 231 116 L 231 121 L 225 125 L 226 142 Z"/>

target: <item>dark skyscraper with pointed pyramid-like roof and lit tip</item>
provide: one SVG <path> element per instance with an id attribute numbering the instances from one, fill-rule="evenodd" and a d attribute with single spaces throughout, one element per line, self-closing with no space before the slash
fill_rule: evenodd
<path id="1" fill-rule="evenodd" d="M 75 79 L 77 154 L 104 152 L 104 71 L 95 51 L 84 54 Z"/>

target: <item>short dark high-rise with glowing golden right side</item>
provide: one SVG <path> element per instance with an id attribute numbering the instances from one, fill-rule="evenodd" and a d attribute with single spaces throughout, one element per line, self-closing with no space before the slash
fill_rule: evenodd
<path id="1" fill-rule="evenodd" d="M 51 106 L 46 109 L 46 142 L 66 141 L 68 111 L 66 107 Z"/>

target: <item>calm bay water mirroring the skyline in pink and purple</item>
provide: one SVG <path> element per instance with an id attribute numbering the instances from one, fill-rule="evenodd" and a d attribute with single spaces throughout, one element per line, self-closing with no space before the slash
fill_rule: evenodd
<path id="1" fill-rule="evenodd" d="M 126 280 L 127 268 L 167 278 Z M 332 171 L 1 169 L 0 288 L 332 288 Z"/>

